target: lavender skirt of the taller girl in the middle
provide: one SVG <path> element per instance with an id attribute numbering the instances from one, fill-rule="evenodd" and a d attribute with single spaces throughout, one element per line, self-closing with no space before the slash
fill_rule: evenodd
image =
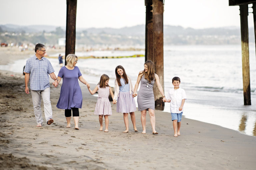
<path id="1" fill-rule="evenodd" d="M 119 92 L 116 104 L 116 112 L 131 113 L 136 111 L 135 100 L 130 92 Z"/>

